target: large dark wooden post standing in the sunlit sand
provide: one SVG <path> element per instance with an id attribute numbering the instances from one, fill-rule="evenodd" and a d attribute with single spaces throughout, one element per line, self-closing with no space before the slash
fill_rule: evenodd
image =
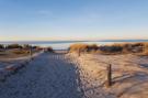
<path id="1" fill-rule="evenodd" d="M 107 66 L 107 81 L 106 81 L 106 87 L 112 86 L 112 65 L 110 64 Z"/>

